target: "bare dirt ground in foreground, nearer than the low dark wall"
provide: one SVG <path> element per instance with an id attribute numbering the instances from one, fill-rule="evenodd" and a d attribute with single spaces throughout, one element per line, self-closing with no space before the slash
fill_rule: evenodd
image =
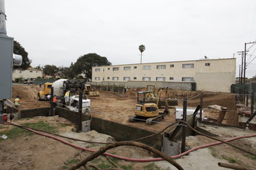
<path id="1" fill-rule="evenodd" d="M 50 126 L 58 127 L 58 134 L 70 138 L 77 138 L 85 141 L 109 142 L 114 139 L 106 134 L 99 134 L 96 131 L 88 131 L 87 133 L 74 133 L 72 129 L 74 125 L 62 117 L 33 117 L 29 119 L 14 120 L 16 124 L 36 123 L 43 121 Z M 7 125 L 0 124 L 0 133 L 5 131 Z M 11 127 L 13 128 L 13 127 Z M 218 135 L 222 139 L 235 138 L 237 136 L 245 136 L 255 134 L 255 131 L 244 131 L 237 128 L 220 128 L 216 126 L 203 125 L 203 127 L 213 134 Z M 10 130 L 9 130 L 10 131 Z M 60 138 L 60 137 L 57 137 Z M 98 145 L 88 142 L 74 141 L 67 138 L 61 138 L 72 145 L 78 145 L 82 148 L 98 150 L 104 145 Z M 186 138 L 187 148 L 195 148 L 200 145 L 213 143 L 212 139 L 204 136 L 189 136 Z M 232 142 L 240 148 L 253 153 L 256 152 L 256 137 L 244 138 Z M 126 158 L 152 158 L 148 151 L 142 148 L 131 146 L 123 146 L 113 148 L 108 151 L 111 154 L 123 156 Z M 75 165 L 77 162 L 91 155 L 89 151 L 82 151 L 78 148 L 73 148 L 70 145 L 65 145 L 53 138 L 43 137 L 38 134 L 23 134 L 18 138 L 0 139 L 0 167 L 3 170 L 33 170 L 33 169 L 67 169 Z M 109 158 L 109 157 L 108 157 Z M 124 169 L 145 169 L 145 170 L 171 170 L 176 169 L 166 161 L 160 162 L 127 162 L 119 159 L 112 159 L 118 167 Z M 232 148 L 230 145 L 216 145 L 209 148 L 202 148 L 192 151 L 189 155 L 175 159 L 184 169 L 227 169 L 220 168 L 217 163 L 224 162 L 231 165 L 254 169 L 256 167 L 255 157 L 249 157 L 247 153 Z M 99 168 L 107 168 L 112 165 L 106 157 L 99 156 L 89 165 L 97 165 Z M 113 165 L 112 165 L 113 167 Z M 84 169 L 84 168 L 80 168 Z"/>

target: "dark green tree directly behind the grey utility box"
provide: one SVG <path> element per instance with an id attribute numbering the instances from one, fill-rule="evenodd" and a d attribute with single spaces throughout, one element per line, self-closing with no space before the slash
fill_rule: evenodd
<path id="1" fill-rule="evenodd" d="M 30 63 L 32 63 L 31 59 L 28 57 L 28 53 L 26 50 L 20 45 L 19 42 L 13 42 L 13 53 L 19 54 L 22 56 L 22 65 L 21 66 L 13 66 L 13 69 L 26 70 L 30 67 Z"/>

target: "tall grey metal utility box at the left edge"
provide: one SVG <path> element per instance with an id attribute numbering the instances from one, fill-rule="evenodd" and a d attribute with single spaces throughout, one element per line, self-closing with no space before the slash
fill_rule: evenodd
<path id="1" fill-rule="evenodd" d="M 0 34 L 0 99 L 12 98 L 13 38 Z"/>

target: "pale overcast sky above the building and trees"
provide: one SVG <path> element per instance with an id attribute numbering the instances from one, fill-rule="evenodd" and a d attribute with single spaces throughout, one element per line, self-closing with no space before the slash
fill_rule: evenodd
<path id="1" fill-rule="evenodd" d="M 237 51 L 256 40 L 255 12 L 255 0 L 5 0 L 7 35 L 32 66 L 70 66 L 87 53 L 112 65 L 140 63 L 144 44 L 143 63 L 234 56 L 237 76 Z M 256 59 L 246 76 L 255 74 Z"/>

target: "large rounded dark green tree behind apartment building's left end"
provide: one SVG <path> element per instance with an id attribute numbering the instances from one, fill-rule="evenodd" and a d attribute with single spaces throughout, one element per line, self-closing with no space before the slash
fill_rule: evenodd
<path id="1" fill-rule="evenodd" d="M 96 53 L 88 53 L 80 56 L 76 63 L 71 66 L 74 74 L 85 73 L 86 79 L 92 79 L 92 66 L 110 66 L 111 63 L 105 56 Z"/>

